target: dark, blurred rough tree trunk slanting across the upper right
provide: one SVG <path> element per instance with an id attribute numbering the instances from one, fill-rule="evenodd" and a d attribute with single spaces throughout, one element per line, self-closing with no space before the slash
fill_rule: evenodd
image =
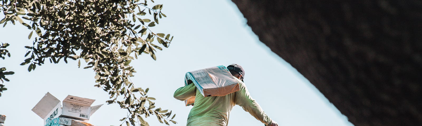
<path id="1" fill-rule="evenodd" d="M 232 0 L 355 126 L 422 126 L 420 0 Z"/>

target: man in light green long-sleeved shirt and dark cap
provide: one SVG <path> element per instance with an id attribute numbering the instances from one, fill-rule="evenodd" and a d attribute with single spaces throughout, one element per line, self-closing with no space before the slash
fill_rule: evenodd
<path id="1" fill-rule="evenodd" d="M 249 95 L 243 83 L 245 71 L 237 64 L 227 66 L 227 69 L 238 81 L 240 90 L 225 96 L 204 97 L 200 95 L 195 84 L 190 83 L 181 87 L 174 92 L 173 97 L 177 100 L 187 100 L 195 96 L 195 105 L 190 110 L 187 118 L 187 126 L 227 126 L 230 111 L 233 106 L 239 105 L 254 116 L 257 120 L 265 124 L 265 126 L 278 126 L 264 113 L 264 110 Z M 199 94 L 199 95 L 196 95 Z"/>

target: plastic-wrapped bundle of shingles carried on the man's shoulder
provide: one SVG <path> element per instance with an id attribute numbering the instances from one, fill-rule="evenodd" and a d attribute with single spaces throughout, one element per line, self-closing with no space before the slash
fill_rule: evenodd
<path id="1" fill-rule="evenodd" d="M 204 97 L 225 96 L 240 90 L 238 81 L 225 66 L 214 66 L 187 72 L 185 85 L 194 83 Z M 193 105 L 195 97 L 185 101 L 186 106 Z"/>

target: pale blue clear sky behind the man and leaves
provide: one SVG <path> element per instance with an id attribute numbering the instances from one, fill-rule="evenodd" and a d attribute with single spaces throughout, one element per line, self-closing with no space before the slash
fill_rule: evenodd
<path id="1" fill-rule="evenodd" d="M 173 110 L 177 124 L 185 126 L 191 106 L 173 98 L 173 92 L 184 85 L 184 75 L 211 66 L 238 63 L 245 69 L 245 84 L 265 113 L 281 126 L 352 126 L 309 81 L 295 68 L 259 41 L 238 8 L 230 0 L 156 0 L 164 4 L 167 18 L 160 20 L 153 31 L 174 35 L 169 48 L 158 51 L 157 61 L 142 55 L 132 61 L 138 73 L 132 77 L 137 87 L 149 87 L 157 107 Z M 3 18 L 0 15 L 0 18 Z M 43 120 L 32 107 L 50 92 L 59 100 L 67 95 L 95 99 L 93 105 L 104 104 L 108 93 L 94 87 L 92 69 L 78 68 L 76 61 L 68 64 L 46 63 L 28 72 L 19 64 L 26 58 L 24 46 L 30 30 L 20 24 L 0 28 L 0 42 L 10 43 L 11 58 L 0 60 L 15 74 L 7 76 L 7 91 L 0 97 L 0 114 L 7 115 L 5 126 L 42 126 Z M 36 35 L 32 35 L 35 37 Z M 81 63 L 84 66 L 84 62 Z M 103 105 L 89 123 L 97 126 L 118 126 L 126 110 L 117 104 Z M 166 126 L 152 116 L 151 126 Z M 235 106 L 229 126 L 262 126 L 263 124 Z"/>

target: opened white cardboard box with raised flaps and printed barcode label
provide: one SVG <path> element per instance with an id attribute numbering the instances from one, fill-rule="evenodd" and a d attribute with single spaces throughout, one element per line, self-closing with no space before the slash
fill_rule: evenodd
<path id="1" fill-rule="evenodd" d="M 57 117 L 88 121 L 89 117 L 101 107 L 101 105 L 91 107 L 94 101 L 88 98 L 68 95 L 63 100 L 62 106 L 59 99 L 47 92 L 37 105 L 32 108 L 32 111 L 44 119 L 44 125 Z"/>

